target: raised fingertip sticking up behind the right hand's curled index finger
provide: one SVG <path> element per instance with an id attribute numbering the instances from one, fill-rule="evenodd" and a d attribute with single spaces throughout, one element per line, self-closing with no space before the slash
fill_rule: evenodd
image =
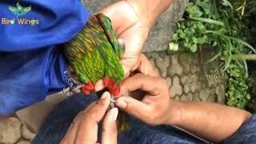
<path id="1" fill-rule="evenodd" d="M 137 70 L 138 72 L 150 76 L 159 76 L 156 71 L 154 71 L 154 68 L 148 58 L 144 54 L 141 54 L 140 57 L 138 58 L 138 62 L 136 66 L 132 70 Z"/>

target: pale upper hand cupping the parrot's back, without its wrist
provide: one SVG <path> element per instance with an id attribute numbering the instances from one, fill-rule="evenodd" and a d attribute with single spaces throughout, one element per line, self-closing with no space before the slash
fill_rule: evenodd
<path id="1" fill-rule="evenodd" d="M 126 44 L 121 63 L 128 77 L 138 62 L 142 46 L 150 31 L 150 23 L 143 17 L 143 14 L 136 13 L 126 1 L 107 6 L 101 13 L 110 18 L 115 34 Z"/>

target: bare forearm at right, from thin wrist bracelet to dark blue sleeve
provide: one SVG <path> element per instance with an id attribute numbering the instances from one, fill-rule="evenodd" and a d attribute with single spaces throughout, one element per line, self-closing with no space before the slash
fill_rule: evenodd
<path id="1" fill-rule="evenodd" d="M 170 118 L 169 124 L 178 122 L 182 113 L 182 120 L 177 126 L 213 142 L 230 137 L 251 117 L 245 110 L 217 103 L 174 102 L 173 106 L 176 119 Z"/>

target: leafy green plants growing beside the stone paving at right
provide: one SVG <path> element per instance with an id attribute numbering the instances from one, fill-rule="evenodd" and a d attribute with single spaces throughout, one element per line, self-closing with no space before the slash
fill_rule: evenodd
<path id="1" fill-rule="evenodd" d="M 218 48 L 216 58 L 223 58 L 222 70 L 230 75 L 227 87 L 227 104 L 244 109 L 250 101 L 246 78 L 248 77 L 246 60 L 232 60 L 233 54 L 251 54 L 256 50 L 250 46 L 250 35 L 246 33 L 244 18 L 238 6 L 244 1 L 235 0 L 190 0 L 184 14 L 184 20 L 178 22 L 178 30 L 173 42 L 196 52 L 198 46 L 208 44 Z M 255 2 L 256 3 L 256 2 Z"/>

